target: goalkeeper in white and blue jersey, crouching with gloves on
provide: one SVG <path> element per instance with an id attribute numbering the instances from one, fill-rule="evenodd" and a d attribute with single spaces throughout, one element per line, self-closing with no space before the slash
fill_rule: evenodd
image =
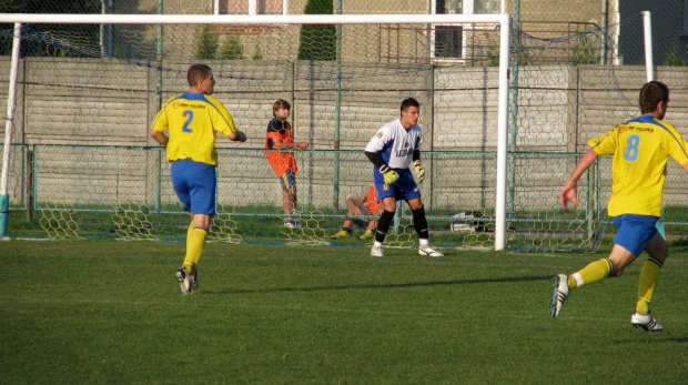
<path id="1" fill-rule="evenodd" d="M 421 104 L 408 98 L 402 102 L 401 118 L 383 125 L 365 146 L 365 155 L 375 165 L 373 175 L 377 199 L 382 201 L 383 212 L 377 221 L 373 256 L 384 256 L 382 244 L 396 212 L 396 201 L 404 200 L 411 207 L 413 225 L 418 233 L 418 254 L 443 256 L 428 243 L 427 220 L 421 201 L 421 191 L 408 166 L 413 166 L 418 182 L 425 179 L 421 164 L 421 143 L 423 131 L 418 125 Z"/>

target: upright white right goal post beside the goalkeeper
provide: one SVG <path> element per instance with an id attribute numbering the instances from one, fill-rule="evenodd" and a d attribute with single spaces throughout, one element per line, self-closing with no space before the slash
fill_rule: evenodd
<path id="1" fill-rule="evenodd" d="M 497 191 L 495 201 L 495 251 L 506 249 L 506 153 L 508 149 L 509 43 L 512 17 L 499 22 L 499 116 L 497 119 Z"/>

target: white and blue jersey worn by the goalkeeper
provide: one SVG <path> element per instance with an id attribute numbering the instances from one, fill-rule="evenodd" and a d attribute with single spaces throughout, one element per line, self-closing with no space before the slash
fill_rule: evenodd
<path id="1" fill-rule="evenodd" d="M 423 131 L 418 124 L 406 130 L 402 122 L 393 120 L 383 125 L 368 144 L 366 152 L 375 152 L 392 169 L 408 169 L 413 152 L 421 149 Z"/>

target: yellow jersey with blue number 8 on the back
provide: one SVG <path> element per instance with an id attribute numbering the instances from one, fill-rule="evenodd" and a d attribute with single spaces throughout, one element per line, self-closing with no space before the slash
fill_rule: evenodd
<path id="1" fill-rule="evenodd" d="M 616 125 L 588 145 L 598 155 L 614 155 L 609 216 L 660 216 L 669 156 L 680 165 L 688 162 L 688 143 L 674 125 L 647 114 Z"/>

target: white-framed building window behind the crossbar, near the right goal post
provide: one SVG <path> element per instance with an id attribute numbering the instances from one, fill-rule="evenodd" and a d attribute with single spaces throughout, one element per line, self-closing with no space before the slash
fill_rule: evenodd
<path id="1" fill-rule="evenodd" d="M 688 1 L 688 0 L 687 0 Z M 505 0 L 432 0 L 432 9 L 437 14 L 503 13 Z M 465 59 L 465 34 L 463 24 L 435 26 L 432 36 L 433 58 Z"/>

